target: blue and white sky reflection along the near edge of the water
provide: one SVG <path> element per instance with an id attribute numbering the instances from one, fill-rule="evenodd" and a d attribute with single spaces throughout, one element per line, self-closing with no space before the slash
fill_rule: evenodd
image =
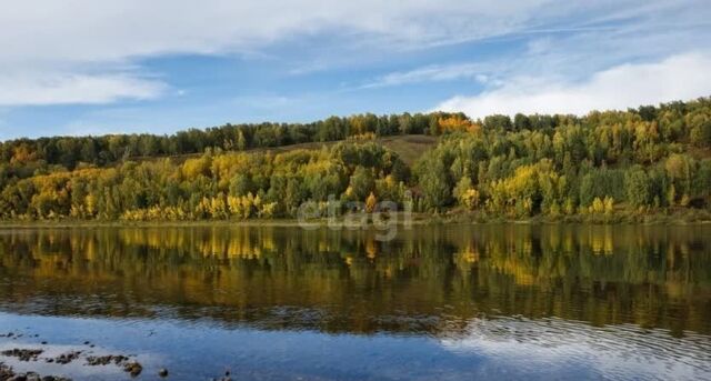
<path id="1" fill-rule="evenodd" d="M 594 328 L 558 319 L 472 320 L 465 332 L 440 338 L 405 334 L 327 334 L 257 330 L 208 321 L 71 319 L 0 313 L 0 330 L 37 333 L 0 339 L 0 348 L 72 349 L 91 354 L 137 354 L 142 379 L 167 367 L 171 379 L 471 380 L 489 379 L 711 379 L 711 341 L 631 325 Z M 445 331 L 447 332 L 447 331 Z M 91 340 L 97 347 L 83 345 Z M 86 352 L 86 354 L 89 354 Z M 43 357 L 44 354 L 42 354 Z M 18 370 L 78 380 L 127 379 L 113 365 L 2 361 Z"/>

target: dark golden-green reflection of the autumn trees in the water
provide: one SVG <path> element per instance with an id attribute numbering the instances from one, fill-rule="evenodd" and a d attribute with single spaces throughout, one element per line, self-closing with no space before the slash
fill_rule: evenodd
<path id="1" fill-rule="evenodd" d="M 390 242 L 272 227 L 8 231 L 0 302 L 118 315 L 161 305 L 334 331 L 437 331 L 494 313 L 710 332 L 710 235 L 600 225 L 421 227 Z"/>

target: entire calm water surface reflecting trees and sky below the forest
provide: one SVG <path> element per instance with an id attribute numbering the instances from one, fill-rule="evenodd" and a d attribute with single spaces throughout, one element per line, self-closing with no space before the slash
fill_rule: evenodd
<path id="1" fill-rule="evenodd" d="M 711 228 L 0 230 L 0 334 L 74 380 L 711 380 Z"/>

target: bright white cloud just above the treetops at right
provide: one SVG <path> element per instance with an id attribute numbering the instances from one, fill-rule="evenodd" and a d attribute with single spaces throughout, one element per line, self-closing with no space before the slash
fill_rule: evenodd
<path id="1" fill-rule="evenodd" d="M 625 109 L 711 96 L 711 54 L 693 52 L 653 63 L 624 63 L 581 82 L 518 77 L 473 97 L 454 97 L 435 109 L 481 118 L 492 113 L 574 113 Z"/>

